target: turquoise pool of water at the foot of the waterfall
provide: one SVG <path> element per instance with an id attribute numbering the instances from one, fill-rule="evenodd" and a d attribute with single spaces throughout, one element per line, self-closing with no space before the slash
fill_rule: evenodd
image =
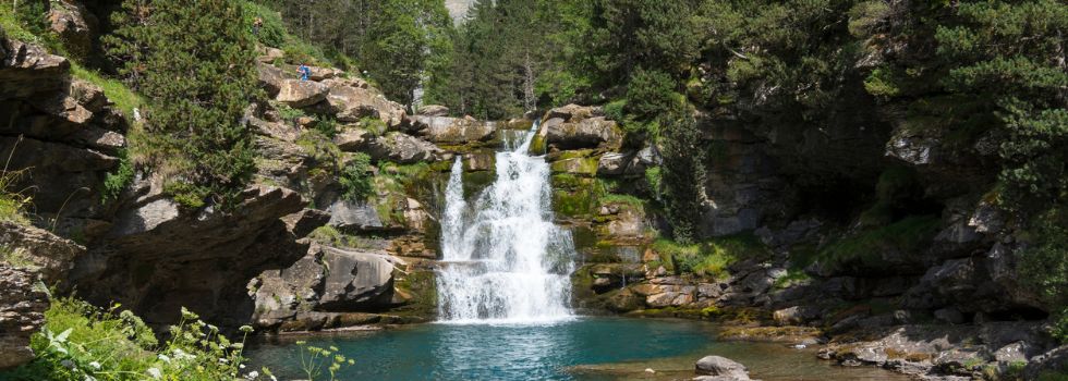
<path id="1" fill-rule="evenodd" d="M 754 379 L 908 380 L 874 368 L 842 368 L 812 351 L 779 344 L 717 342 L 700 321 L 579 318 L 551 324 L 423 324 L 344 335 L 274 339 L 250 348 L 252 364 L 299 378 L 296 340 L 337 346 L 356 365 L 340 380 L 688 380 L 693 364 L 720 355 Z M 646 373 L 652 368 L 657 372 Z"/>

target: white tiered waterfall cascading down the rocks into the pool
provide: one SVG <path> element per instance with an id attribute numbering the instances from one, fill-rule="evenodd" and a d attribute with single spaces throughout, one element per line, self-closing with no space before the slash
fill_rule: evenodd
<path id="1" fill-rule="evenodd" d="M 571 318 L 574 244 L 553 224 L 549 165 L 527 155 L 537 124 L 505 138 L 497 179 L 473 205 L 459 158 L 446 188 L 438 317 L 452 323 L 531 323 Z"/>

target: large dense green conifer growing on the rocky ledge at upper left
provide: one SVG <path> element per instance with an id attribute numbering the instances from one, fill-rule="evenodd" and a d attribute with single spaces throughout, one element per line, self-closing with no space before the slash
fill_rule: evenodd
<path id="1" fill-rule="evenodd" d="M 235 0 L 126 0 L 105 38 L 120 73 L 151 99 L 144 164 L 187 206 L 232 208 L 254 172 L 252 134 L 241 123 L 260 95 L 251 32 Z"/>

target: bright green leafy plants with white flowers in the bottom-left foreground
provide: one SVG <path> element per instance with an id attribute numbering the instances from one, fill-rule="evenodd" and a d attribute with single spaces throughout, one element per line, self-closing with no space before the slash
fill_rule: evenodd
<path id="1" fill-rule="evenodd" d="M 100 309 L 74 298 L 53 299 L 45 328 L 31 341 L 29 364 L 0 374 L 12 380 L 222 380 L 242 377 L 244 340 L 232 343 L 218 328 L 184 308 L 171 339 L 156 340 L 139 318 L 119 305 Z M 243 334 L 252 331 L 243 327 Z M 248 374 L 244 374 L 247 377 Z"/>

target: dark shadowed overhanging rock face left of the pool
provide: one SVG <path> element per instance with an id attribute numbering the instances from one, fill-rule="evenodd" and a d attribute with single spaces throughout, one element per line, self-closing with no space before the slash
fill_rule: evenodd
<path id="1" fill-rule="evenodd" d="M 173 323 L 185 306 L 217 324 L 240 325 L 254 308 L 244 293 L 248 280 L 300 259 L 307 244 L 298 238 L 326 222 L 302 212 L 305 201 L 293 190 L 255 186 L 242 197 L 231 212 L 195 213 L 145 197 L 118 213 L 71 276 L 89 302 L 122 303 L 149 323 Z"/>

